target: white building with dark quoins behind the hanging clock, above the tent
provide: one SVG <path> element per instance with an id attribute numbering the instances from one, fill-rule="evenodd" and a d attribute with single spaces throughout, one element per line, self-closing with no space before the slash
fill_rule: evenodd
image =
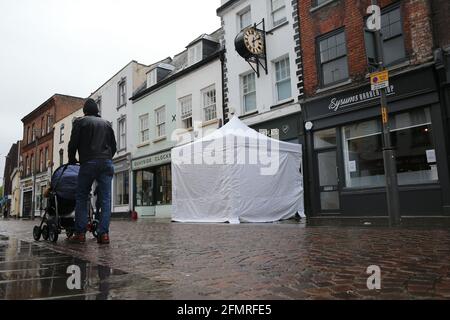
<path id="1" fill-rule="evenodd" d="M 226 118 L 235 113 L 247 125 L 285 141 L 299 141 L 302 79 L 297 1 L 222 0 L 217 10 L 226 49 L 224 96 Z M 265 24 L 267 74 L 259 77 L 235 49 L 245 28 Z M 261 23 L 261 24 L 260 24 Z"/>

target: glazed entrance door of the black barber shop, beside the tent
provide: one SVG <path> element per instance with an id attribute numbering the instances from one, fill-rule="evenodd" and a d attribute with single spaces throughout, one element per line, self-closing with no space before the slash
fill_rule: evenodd
<path id="1" fill-rule="evenodd" d="M 339 178 L 336 150 L 316 153 L 320 213 L 339 213 Z"/>

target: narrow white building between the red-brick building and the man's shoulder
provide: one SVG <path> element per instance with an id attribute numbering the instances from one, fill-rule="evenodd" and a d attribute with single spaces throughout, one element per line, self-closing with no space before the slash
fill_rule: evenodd
<path id="1" fill-rule="evenodd" d="M 69 162 L 68 149 L 73 122 L 83 116 L 83 108 L 81 108 L 53 125 L 53 172 Z"/>

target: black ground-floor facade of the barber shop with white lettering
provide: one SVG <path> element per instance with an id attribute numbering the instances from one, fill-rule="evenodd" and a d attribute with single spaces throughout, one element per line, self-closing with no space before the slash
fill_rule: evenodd
<path id="1" fill-rule="evenodd" d="M 387 89 L 405 216 L 450 214 L 445 117 L 432 66 L 391 76 Z M 386 216 L 380 92 L 370 85 L 305 101 L 309 216 Z"/>

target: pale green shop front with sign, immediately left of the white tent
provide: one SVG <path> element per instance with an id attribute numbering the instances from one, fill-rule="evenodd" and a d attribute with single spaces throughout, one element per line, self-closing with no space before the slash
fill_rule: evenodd
<path id="1" fill-rule="evenodd" d="M 172 214 L 171 150 L 133 159 L 134 210 L 139 217 Z"/>

